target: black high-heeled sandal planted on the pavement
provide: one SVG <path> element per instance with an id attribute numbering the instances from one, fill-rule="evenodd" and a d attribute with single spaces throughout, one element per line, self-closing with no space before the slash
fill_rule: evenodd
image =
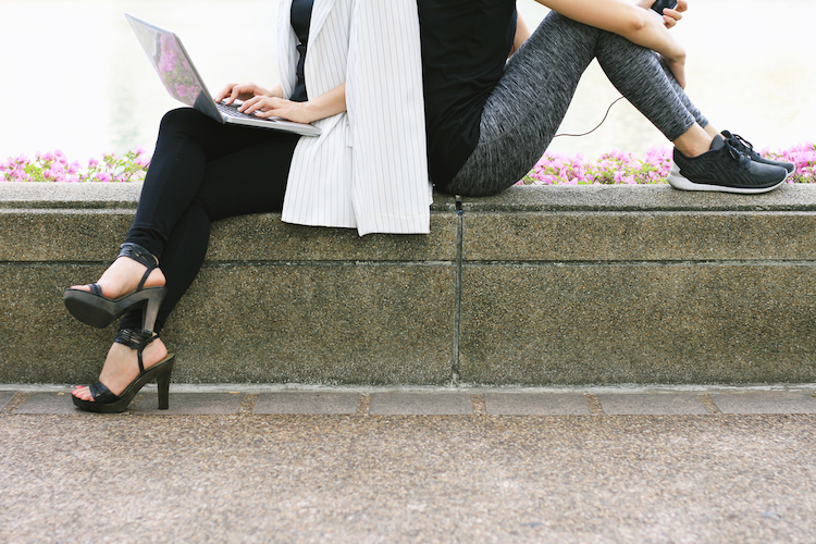
<path id="1" fill-rule="evenodd" d="M 146 383 L 156 379 L 159 384 L 159 409 L 166 410 L 170 407 L 170 373 L 173 371 L 175 356 L 168 354 L 164 359 L 147 370 L 145 370 L 145 361 L 141 358 L 145 348 L 158 337 L 159 335 L 152 331 L 137 331 L 136 329 L 123 329 L 120 331 L 113 342 L 136 350 L 139 361 L 139 375 L 120 395 L 114 395 L 102 382 L 97 382 L 90 386 L 90 394 L 94 400 L 83 400 L 72 395 L 74 405 L 85 411 L 120 413 L 125 411 L 133 397 L 136 396 Z"/>

